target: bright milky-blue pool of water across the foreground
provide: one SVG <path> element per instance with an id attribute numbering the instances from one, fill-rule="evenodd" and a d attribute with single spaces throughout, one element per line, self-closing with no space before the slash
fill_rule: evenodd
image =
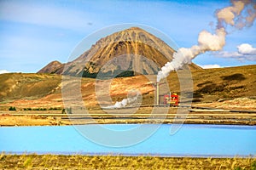
<path id="1" fill-rule="evenodd" d="M 110 140 L 108 134 L 93 132 Z M 119 132 L 136 128 L 137 124 L 101 125 Z M 148 139 L 124 147 L 113 147 L 86 139 L 77 127 L 0 127 L 0 152 L 5 153 L 52 153 L 84 155 L 154 155 L 154 156 L 256 156 L 256 127 L 231 125 L 184 124 L 177 133 L 171 134 L 170 124 L 147 124 L 144 128 L 159 128 Z M 140 132 L 140 133 L 143 133 Z M 143 135 L 134 133 L 136 135 Z M 129 138 L 133 138 L 132 135 Z M 118 138 L 114 140 L 126 140 Z"/>

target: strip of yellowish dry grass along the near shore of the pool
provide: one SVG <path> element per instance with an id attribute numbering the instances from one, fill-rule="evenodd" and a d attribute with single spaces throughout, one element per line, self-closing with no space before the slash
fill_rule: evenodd
<path id="1" fill-rule="evenodd" d="M 190 158 L 156 156 L 0 156 L 0 169 L 251 169 L 256 158 Z"/>

